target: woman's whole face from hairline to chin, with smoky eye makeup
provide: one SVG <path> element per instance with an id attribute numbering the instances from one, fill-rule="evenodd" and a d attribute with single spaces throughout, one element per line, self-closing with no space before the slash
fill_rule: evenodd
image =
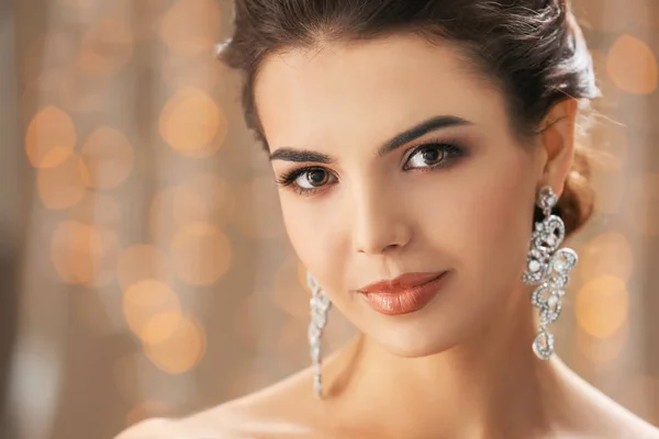
<path id="1" fill-rule="evenodd" d="M 298 256 L 401 356 L 459 344 L 523 291 L 541 148 L 520 144 L 501 93 L 470 71 L 448 45 L 395 36 L 270 57 L 256 83 Z M 362 292 L 405 273 L 440 280 Z"/>

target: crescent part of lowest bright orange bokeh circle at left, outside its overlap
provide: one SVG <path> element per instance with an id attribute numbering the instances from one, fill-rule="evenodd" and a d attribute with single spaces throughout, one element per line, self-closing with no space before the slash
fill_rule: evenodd
<path id="1" fill-rule="evenodd" d="M 203 359 L 206 337 L 192 317 L 182 317 L 175 331 L 165 340 L 145 344 L 144 353 L 159 369 L 170 374 L 186 373 Z"/>

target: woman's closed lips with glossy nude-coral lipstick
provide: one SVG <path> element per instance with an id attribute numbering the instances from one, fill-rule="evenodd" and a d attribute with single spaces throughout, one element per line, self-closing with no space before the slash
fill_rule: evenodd
<path id="1" fill-rule="evenodd" d="M 357 290 L 378 313 L 399 315 L 413 313 L 427 305 L 439 292 L 444 272 L 406 273 L 395 279 L 368 284 Z"/>

